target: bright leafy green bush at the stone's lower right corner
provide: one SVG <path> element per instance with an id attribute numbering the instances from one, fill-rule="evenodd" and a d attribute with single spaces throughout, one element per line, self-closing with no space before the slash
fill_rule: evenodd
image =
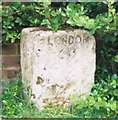
<path id="1" fill-rule="evenodd" d="M 100 78 L 101 79 L 101 78 Z M 108 76 L 105 80 L 95 84 L 91 95 L 87 98 L 81 97 L 79 100 L 72 96 L 75 102 L 72 104 L 72 113 L 87 118 L 115 118 L 117 111 L 117 82 L 118 76 Z"/>

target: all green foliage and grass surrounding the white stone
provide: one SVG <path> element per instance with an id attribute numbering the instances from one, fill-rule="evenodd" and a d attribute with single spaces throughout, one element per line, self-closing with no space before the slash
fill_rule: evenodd
<path id="1" fill-rule="evenodd" d="M 3 91 L 3 118 L 117 118 L 118 117 L 118 2 L 18 3 L 3 7 L 3 44 L 20 40 L 23 28 L 45 26 L 87 29 L 96 38 L 97 69 L 91 95 L 72 96 L 68 108 L 47 107 L 38 111 L 23 94 L 21 78 Z"/>

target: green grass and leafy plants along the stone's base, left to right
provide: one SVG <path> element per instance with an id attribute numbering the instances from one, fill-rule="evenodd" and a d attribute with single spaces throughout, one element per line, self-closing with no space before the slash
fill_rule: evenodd
<path id="1" fill-rule="evenodd" d="M 96 83 L 87 97 L 70 95 L 72 104 L 65 108 L 44 108 L 37 110 L 23 94 L 21 80 L 7 84 L 2 94 L 3 118 L 118 118 L 116 74 L 108 75 Z"/>

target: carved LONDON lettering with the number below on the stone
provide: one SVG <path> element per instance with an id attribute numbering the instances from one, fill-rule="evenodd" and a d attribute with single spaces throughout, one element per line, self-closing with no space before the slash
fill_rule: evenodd
<path id="1" fill-rule="evenodd" d="M 58 57 L 63 59 L 64 56 L 74 57 L 76 49 L 78 49 L 78 43 L 84 45 L 84 43 L 87 42 L 87 40 L 83 40 L 84 36 L 86 36 L 86 39 L 89 38 L 88 34 L 55 34 L 53 37 L 42 36 L 40 42 L 43 42 L 44 44 L 47 43 L 49 47 L 59 47 Z"/>

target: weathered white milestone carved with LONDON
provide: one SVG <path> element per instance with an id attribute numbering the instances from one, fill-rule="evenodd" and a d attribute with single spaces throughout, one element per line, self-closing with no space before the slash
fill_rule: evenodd
<path id="1" fill-rule="evenodd" d="M 22 81 L 39 108 L 50 102 L 68 104 L 71 94 L 88 94 L 95 61 L 95 39 L 88 31 L 22 30 Z"/>

